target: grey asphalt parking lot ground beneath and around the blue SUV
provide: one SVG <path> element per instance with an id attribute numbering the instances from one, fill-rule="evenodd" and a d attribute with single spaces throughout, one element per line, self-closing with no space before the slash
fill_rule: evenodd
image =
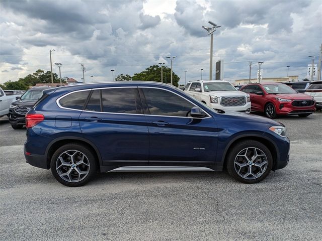
<path id="1" fill-rule="evenodd" d="M 0 118 L 1 240 L 321 240 L 322 113 L 277 121 L 289 165 L 258 184 L 226 173 L 104 173 L 59 184 L 25 162 L 26 130 Z"/>

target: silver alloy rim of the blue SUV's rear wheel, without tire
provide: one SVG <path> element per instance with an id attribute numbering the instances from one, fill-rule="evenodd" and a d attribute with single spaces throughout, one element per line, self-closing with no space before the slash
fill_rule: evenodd
<path id="1" fill-rule="evenodd" d="M 79 182 L 89 174 L 90 162 L 84 153 L 68 150 L 57 158 L 56 170 L 64 181 Z"/>

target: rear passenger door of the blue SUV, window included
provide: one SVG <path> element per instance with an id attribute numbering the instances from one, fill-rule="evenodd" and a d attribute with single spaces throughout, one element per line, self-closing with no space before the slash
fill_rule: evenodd
<path id="1" fill-rule="evenodd" d="M 94 89 L 79 124 L 103 165 L 148 164 L 148 129 L 137 87 Z"/>

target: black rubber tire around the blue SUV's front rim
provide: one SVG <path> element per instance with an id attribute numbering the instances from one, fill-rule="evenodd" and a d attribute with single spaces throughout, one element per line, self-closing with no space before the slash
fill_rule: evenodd
<path id="1" fill-rule="evenodd" d="M 247 148 L 249 148 L 249 149 L 247 149 Z M 240 167 L 239 165 L 236 165 L 235 160 L 237 162 L 239 162 L 238 158 L 240 158 L 237 155 L 240 153 L 243 153 L 243 151 L 245 149 L 247 150 L 246 151 L 247 153 L 250 153 L 250 152 L 252 152 L 252 150 L 254 151 L 254 149 L 252 149 L 252 148 L 256 148 L 258 154 L 262 152 L 266 156 L 265 157 L 258 157 L 258 158 L 260 158 L 260 160 L 255 159 L 252 163 L 248 162 L 248 165 L 246 165 L 245 167 Z M 267 164 L 265 164 L 262 167 L 264 170 L 261 170 L 256 165 L 260 165 L 260 164 L 264 163 L 264 160 L 267 162 Z M 252 167 L 251 170 L 253 170 L 254 174 L 256 174 L 256 172 L 258 171 L 258 173 L 256 174 L 256 175 L 258 175 L 258 177 L 253 176 L 253 174 L 248 175 L 246 178 L 242 177 L 242 176 L 247 175 L 247 173 L 249 172 L 249 170 L 250 170 L 249 166 Z M 240 167 L 240 169 L 238 169 L 239 167 Z M 272 170 L 272 167 L 273 167 L 273 157 L 272 157 L 270 150 L 264 144 L 262 144 L 258 141 L 253 141 L 253 140 L 241 141 L 241 142 L 237 143 L 236 145 L 234 145 L 233 147 L 231 147 L 229 149 L 229 154 L 226 159 L 226 168 L 227 168 L 229 175 L 232 176 L 235 180 L 237 180 L 239 182 L 243 182 L 243 183 L 257 183 L 257 182 L 264 180 L 267 177 L 267 175 L 270 173 L 270 171 Z M 243 168 L 243 170 L 242 170 L 242 168 Z M 240 174 L 238 174 L 237 169 L 239 170 Z M 244 174 L 244 173 L 246 173 L 246 174 Z"/>

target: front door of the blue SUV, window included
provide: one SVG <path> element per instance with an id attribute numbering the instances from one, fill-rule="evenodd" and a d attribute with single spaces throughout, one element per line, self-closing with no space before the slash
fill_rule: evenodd
<path id="1" fill-rule="evenodd" d="M 218 129 L 210 115 L 190 117 L 196 105 L 174 90 L 139 87 L 139 93 L 149 131 L 150 165 L 214 164 Z"/>

